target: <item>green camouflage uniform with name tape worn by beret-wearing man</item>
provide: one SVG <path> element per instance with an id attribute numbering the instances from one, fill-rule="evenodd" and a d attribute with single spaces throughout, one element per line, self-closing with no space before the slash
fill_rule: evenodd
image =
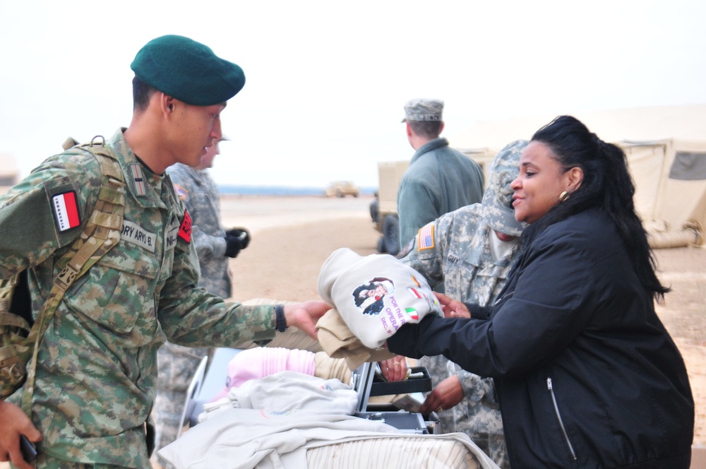
<path id="1" fill-rule="evenodd" d="M 126 179 L 121 242 L 66 292 L 42 338 L 32 422 L 40 453 L 64 461 L 149 468 L 145 422 L 155 397 L 157 350 L 168 338 L 237 347 L 275 336 L 273 306 L 225 303 L 198 283 L 193 245 L 179 237 L 184 206 L 168 176 L 152 174 L 122 131 L 107 142 Z M 97 160 L 56 155 L 0 198 L 0 276 L 29 268 L 37 314 L 101 187 Z M 73 191 L 81 225 L 60 231 L 50 201 Z M 8 397 L 19 404 L 22 389 Z"/>

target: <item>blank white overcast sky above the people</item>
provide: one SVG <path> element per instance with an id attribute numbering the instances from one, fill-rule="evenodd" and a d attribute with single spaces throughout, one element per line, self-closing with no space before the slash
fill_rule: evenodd
<path id="1" fill-rule="evenodd" d="M 131 119 L 130 63 L 186 35 L 239 64 L 220 184 L 377 185 L 407 160 L 402 106 L 477 120 L 706 102 L 706 2 L 0 0 L 0 153 L 24 176 L 67 136 Z M 518 138 L 529 136 L 518 136 Z"/>

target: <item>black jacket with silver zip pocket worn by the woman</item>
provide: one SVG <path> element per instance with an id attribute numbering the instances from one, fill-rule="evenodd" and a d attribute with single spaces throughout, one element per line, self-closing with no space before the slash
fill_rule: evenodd
<path id="1" fill-rule="evenodd" d="M 686 367 L 613 222 L 587 210 L 525 246 L 489 319 L 428 316 L 390 350 L 493 376 L 515 469 L 687 469 Z"/>

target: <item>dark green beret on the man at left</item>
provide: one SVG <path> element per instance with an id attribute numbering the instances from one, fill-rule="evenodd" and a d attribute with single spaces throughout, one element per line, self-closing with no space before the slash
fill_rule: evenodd
<path id="1" fill-rule="evenodd" d="M 151 40 L 140 49 L 130 68 L 144 83 L 194 106 L 226 102 L 245 85 L 245 74 L 237 64 L 184 36 Z"/>

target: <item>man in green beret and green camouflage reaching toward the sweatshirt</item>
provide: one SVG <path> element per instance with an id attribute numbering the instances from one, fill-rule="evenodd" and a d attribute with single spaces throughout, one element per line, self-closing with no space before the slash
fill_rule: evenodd
<path id="1" fill-rule="evenodd" d="M 31 420 L 23 388 L 0 401 L 0 460 L 30 468 L 20 434 L 37 445 L 38 468 L 150 467 L 157 350 L 264 344 L 287 326 L 316 336 L 329 308 L 310 301 L 243 306 L 199 288 L 189 213 L 167 167 L 197 166 L 222 138 L 220 116 L 245 83 L 237 64 L 187 37 L 148 42 L 131 68 L 133 117 L 106 139 L 125 181 L 119 242 L 66 291 L 37 357 Z M 32 313 L 49 295 L 93 213 L 103 180 L 80 147 L 52 156 L 0 198 L 0 278 L 28 271 Z"/>

